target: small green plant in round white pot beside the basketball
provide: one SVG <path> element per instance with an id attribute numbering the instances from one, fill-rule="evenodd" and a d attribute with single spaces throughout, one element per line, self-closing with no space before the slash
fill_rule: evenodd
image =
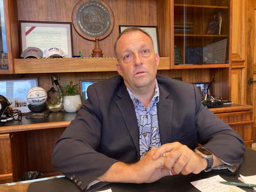
<path id="1" fill-rule="evenodd" d="M 79 84 L 73 84 L 70 81 L 69 84 L 64 83 L 63 95 L 64 95 L 64 109 L 66 112 L 73 113 L 77 112 L 81 106 L 81 96 L 75 89 Z"/>

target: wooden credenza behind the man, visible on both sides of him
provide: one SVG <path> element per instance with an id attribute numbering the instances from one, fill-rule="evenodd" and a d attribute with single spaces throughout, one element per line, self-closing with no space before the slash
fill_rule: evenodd
<path id="1" fill-rule="evenodd" d="M 244 139 L 252 144 L 252 106 L 233 104 L 212 110 Z M 0 124 L 0 184 L 15 182 L 26 171 L 40 171 L 46 177 L 59 175 L 51 156 L 60 138 L 76 113 L 51 113 L 44 119 L 23 119 Z M 3 166 L 4 165 L 4 166 Z"/>

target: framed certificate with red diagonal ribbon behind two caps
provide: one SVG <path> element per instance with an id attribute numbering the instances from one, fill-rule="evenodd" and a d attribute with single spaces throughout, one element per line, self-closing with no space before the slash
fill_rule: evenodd
<path id="1" fill-rule="evenodd" d="M 66 58 L 73 55 L 71 23 L 19 21 L 21 53 L 28 47 L 60 48 Z"/>

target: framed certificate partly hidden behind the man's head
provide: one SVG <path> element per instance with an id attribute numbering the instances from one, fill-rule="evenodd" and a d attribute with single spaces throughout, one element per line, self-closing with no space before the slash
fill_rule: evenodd
<path id="1" fill-rule="evenodd" d="M 139 26 L 139 25 L 119 25 L 119 33 L 125 30 L 127 27 L 139 27 L 140 29 L 146 31 L 153 40 L 154 50 L 159 55 L 159 43 L 158 43 L 158 29 L 157 26 Z"/>

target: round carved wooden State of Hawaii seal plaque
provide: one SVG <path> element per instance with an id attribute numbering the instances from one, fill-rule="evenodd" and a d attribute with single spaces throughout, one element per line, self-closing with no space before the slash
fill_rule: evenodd
<path id="1" fill-rule="evenodd" d="M 102 40 L 114 27 L 114 14 L 102 0 L 80 0 L 73 9 L 72 23 L 83 38 Z"/>

